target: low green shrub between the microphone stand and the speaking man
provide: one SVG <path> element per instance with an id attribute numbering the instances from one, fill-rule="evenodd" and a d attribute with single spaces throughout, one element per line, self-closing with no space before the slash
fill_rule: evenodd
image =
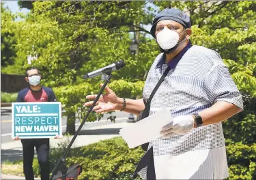
<path id="1" fill-rule="evenodd" d="M 129 149 L 122 138 L 117 137 L 70 149 L 66 165 L 81 164 L 83 173 L 79 179 L 131 179 L 143 153 L 141 147 Z"/>

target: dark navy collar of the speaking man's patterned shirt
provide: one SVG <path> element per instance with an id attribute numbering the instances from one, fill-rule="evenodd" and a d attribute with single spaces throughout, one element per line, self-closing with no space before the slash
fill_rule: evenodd
<path id="1" fill-rule="evenodd" d="M 186 45 L 186 47 L 179 53 L 177 54 L 172 60 L 170 60 L 167 65 L 169 67 L 171 67 L 171 69 L 174 69 L 177 65 L 177 63 L 180 61 L 180 59 L 182 58 L 182 56 L 186 53 L 186 51 L 191 48 L 192 43 L 191 41 L 188 41 L 188 44 Z M 162 55 L 162 57 L 160 58 L 160 60 L 158 61 L 157 65 L 156 65 L 156 69 L 161 68 L 162 69 L 162 65 L 165 64 L 165 54 Z"/>

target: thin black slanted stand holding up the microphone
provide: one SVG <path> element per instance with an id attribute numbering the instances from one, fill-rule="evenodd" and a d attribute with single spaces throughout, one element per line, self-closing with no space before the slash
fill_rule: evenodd
<path id="1" fill-rule="evenodd" d="M 72 146 L 72 144 L 74 143 L 74 140 L 76 139 L 77 135 L 79 134 L 81 128 L 83 127 L 83 125 L 85 124 L 87 118 L 89 117 L 89 114 L 91 113 L 92 109 L 94 108 L 94 106 L 96 105 L 97 101 L 99 100 L 104 88 L 106 88 L 106 85 L 109 83 L 112 74 L 110 72 L 106 73 L 108 75 L 108 77 L 106 77 L 106 80 L 102 86 L 102 88 L 100 89 L 100 92 L 98 92 L 98 95 L 96 96 L 96 98 L 94 99 L 94 103 L 92 103 L 91 107 L 89 108 L 89 111 L 87 111 L 87 114 L 85 115 L 85 118 L 83 118 L 83 122 L 80 124 L 78 130 L 76 131 L 76 133 L 74 134 L 74 137 L 72 138 L 72 140 L 70 141 L 67 149 L 64 151 L 63 156 L 61 158 L 59 158 L 57 164 L 55 165 L 55 168 L 52 171 L 52 175 L 50 177 L 50 180 L 53 179 L 53 177 L 55 175 L 57 175 L 57 173 L 59 171 L 61 171 L 61 175 L 62 175 L 62 180 L 66 180 L 66 175 L 67 175 L 67 171 L 68 171 L 68 167 L 66 166 L 65 162 L 66 162 L 66 156 L 68 155 L 68 151 L 70 150 L 70 147 Z"/>

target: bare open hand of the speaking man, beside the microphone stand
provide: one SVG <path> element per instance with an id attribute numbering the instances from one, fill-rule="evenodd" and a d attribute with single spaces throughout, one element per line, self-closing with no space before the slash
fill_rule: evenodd
<path id="1" fill-rule="evenodd" d="M 103 84 L 100 84 L 102 87 Z M 106 94 L 100 96 L 96 106 L 94 107 L 93 111 L 96 113 L 107 113 L 109 111 L 115 111 L 122 109 L 122 105 L 124 105 L 124 101 L 122 98 L 117 97 L 115 92 L 111 90 L 111 88 L 106 87 L 105 89 Z M 95 99 L 96 94 L 86 96 L 87 99 Z M 94 101 L 89 101 L 84 104 L 84 106 L 91 106 Z"/>

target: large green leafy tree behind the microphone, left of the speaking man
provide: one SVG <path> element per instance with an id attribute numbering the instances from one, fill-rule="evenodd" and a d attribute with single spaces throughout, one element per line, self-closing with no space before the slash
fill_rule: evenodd
<path id="1" fill-rule="evenodd" d="M 133 19 L 138 14 L 143 17 L 143 3 L 35 1 L 31 14 L 23 17 L 24 21 L 14 22 L 10 27 L 18 29 L 16 37 L 20 54 L 39 55 L 38 60 L 33 61 L 33 65 L 43 70 L 46 86 L 65 86 L 74 90 L 75 85 L 83 86 L 82 75 L 119 59 L 125 60 L 126 69 L 113 73 L 113 79 L 123 77 L 128 79 L 123 83 L 128 84 L 132 77 L 143 79 L 145 74 L 143 60 L 139 60 L 138 56 L 130 56 L 129 50 L 129 32 L 138 31 Z M 143 29 L 140 31 L 145 32 Z M 146 44 L 145 41 L 141 46 Z M 34 51 L 31 50 L 31 45 L 35 47 Z M 149 42 L 148 46 L 150 45 Z M 143 53 L 145 51 L 150 52 L 150 48 L 144 48 Z M 157 51 L 153 53 L 156 54 Z M 145 57 L 143 59 L 148 61 Z M 150 63 L 147 64 L 149 67 Z M 135 66 L 142 68 L 136 69 Z M 133 75 L 130 76 L 131 74 Z M 95 84 L 98 80 L 99 78 L 89 79 L 87 82 Z M 136 82 L 137 80 L 134 81 L 134 86 Z M 94 86 L 94 89 L 98 90 L 98 86 Z M 59 91 L 56 89 L 56 92 Z M 87 94 L 93 92 L 96 93 L 94 90 Z M 74 111 L 71 113 L 68 108 L 76 109 L 73 107 L 81 106 L 80 102 L 74 101 L 75 99 L 70 98 L 73 101 L 68 105 L 63 102 L 69 118 L 67 132 L 71 134 L 74 133 L 75 116 Z"/>

